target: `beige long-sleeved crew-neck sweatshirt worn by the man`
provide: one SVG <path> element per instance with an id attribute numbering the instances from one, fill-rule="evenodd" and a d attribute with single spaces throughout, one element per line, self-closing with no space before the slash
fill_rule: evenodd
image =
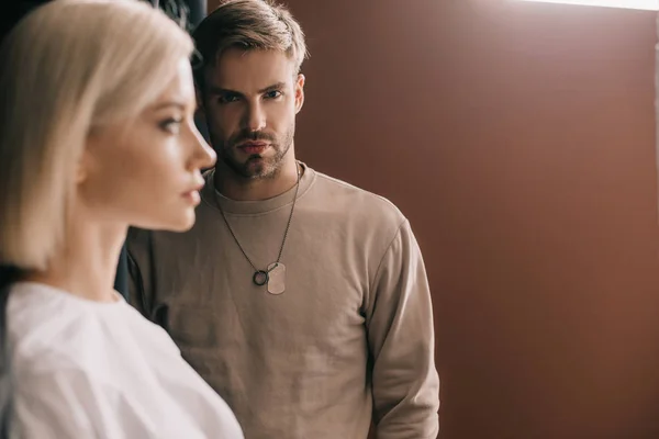
<path id="1" fill-rule="evenodd" d="M 304 167 L 280 295 L 275 262 L 294 189 L 216 193 L 208 173 L 185 234 L 132 229 L 131 301 L 164 326 L 234 410 L 247 439 L 435 439 L 439 380 L 431 295 L 409 222 L 389 201 Z"/>

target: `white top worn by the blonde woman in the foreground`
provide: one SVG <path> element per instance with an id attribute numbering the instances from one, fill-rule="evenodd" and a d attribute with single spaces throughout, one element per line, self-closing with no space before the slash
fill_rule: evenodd
<path id="1" fill-rule="evenodd" d="M 123 299 L 100 303 L 22 282 L 8 311 L 12 438 L 243 438 L 167 333 Z"/>

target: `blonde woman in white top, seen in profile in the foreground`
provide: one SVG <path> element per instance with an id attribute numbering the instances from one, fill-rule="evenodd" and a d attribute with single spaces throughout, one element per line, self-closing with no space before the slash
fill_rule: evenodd
<path id="1" fill-rule="evenodd" d="M 215 160 L 192 120 L 191 53 L 186 32 L 131 0 L 55 0 L 0 49 L 11 437 L 243 437 L 169 336 L 112 288 L 129 226 L 189 229 L 200 168 Z"/>

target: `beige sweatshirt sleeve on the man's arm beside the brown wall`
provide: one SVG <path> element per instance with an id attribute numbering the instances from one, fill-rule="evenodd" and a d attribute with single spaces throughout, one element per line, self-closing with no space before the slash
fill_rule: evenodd
<path id="1" fill-rule="evenodd" d="M 370 289 L 366 324 L 378 439 L 435 439 L 439 378 L 431 292 L 421 249 L 405 221 Z"/>

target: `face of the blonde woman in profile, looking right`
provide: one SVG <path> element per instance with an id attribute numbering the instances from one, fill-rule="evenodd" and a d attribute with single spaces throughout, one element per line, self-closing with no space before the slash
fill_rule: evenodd
<path id="1" fill-rule="evenodd" d="M 201 169 L 215 153 L 194 125 L 194 85 L 188 59 L 134 121 L 90 134 L 78 177 L 77 204 L 98 219 L 149 229 L 194 224 Z"/>

